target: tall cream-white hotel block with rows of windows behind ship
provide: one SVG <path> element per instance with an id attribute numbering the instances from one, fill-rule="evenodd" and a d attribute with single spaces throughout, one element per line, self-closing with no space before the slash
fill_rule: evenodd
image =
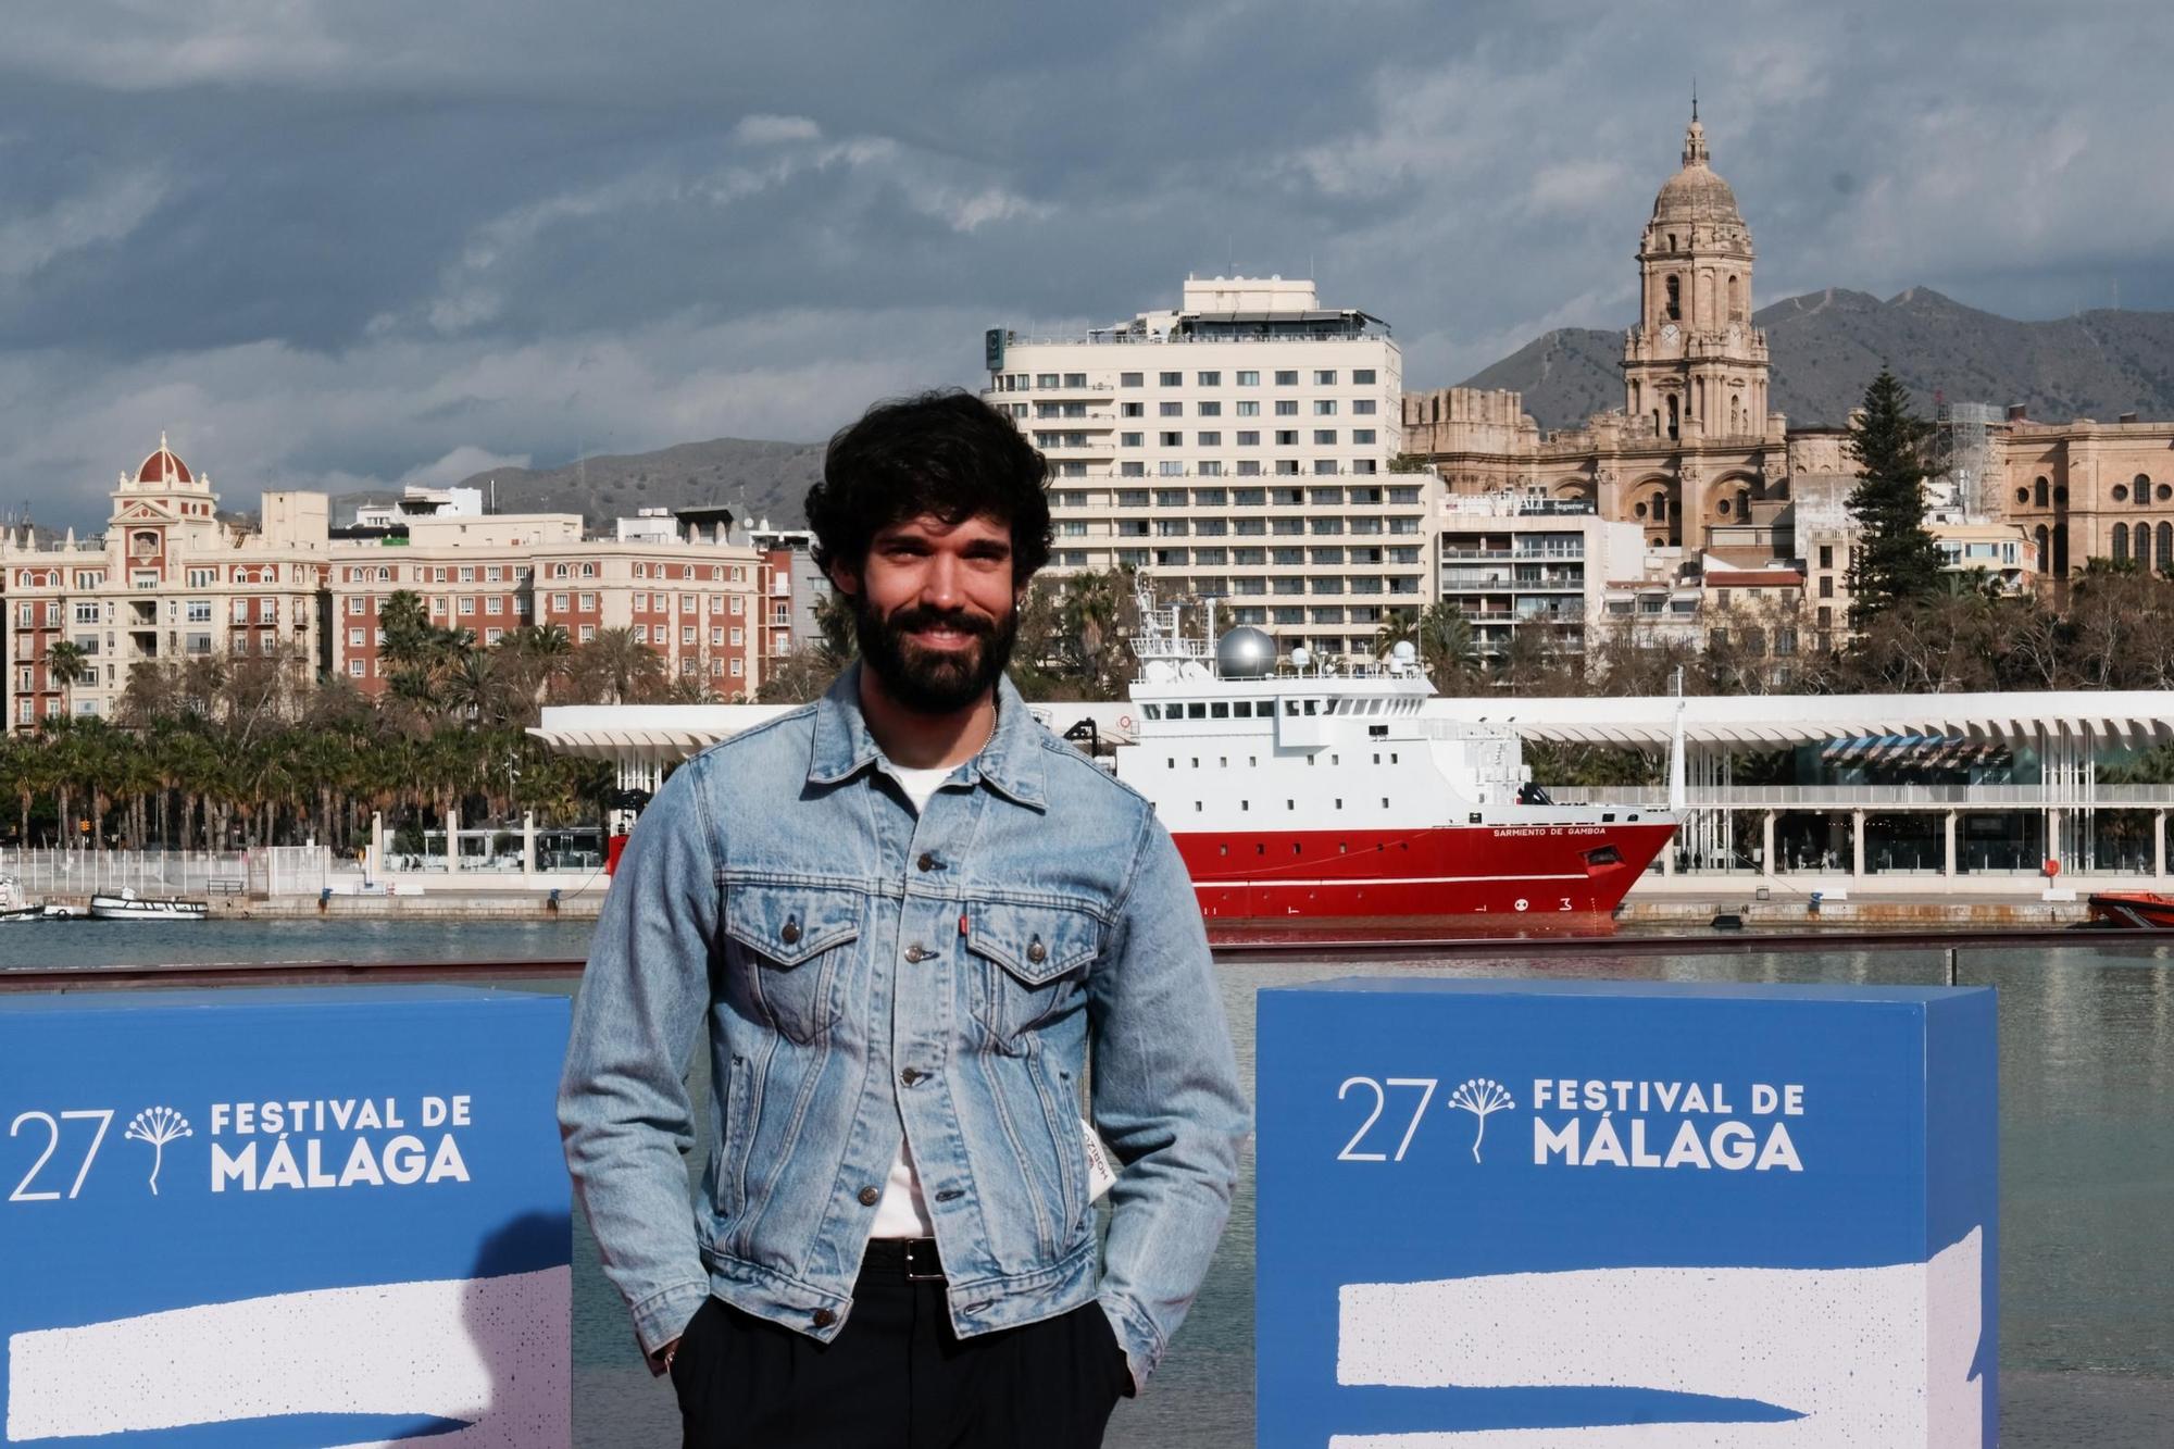
<path id="1" fill-rule="evenodd" d="M 985 339 L 998 411 L 1050 459 L 1052 574 L 1130 564 L 1283 648 L 1374 655 L 1433 577 L 1430 474 L 1391 474 L 1402 352 L 1311 281 L 1187 281 L 1176 311 Z"/>

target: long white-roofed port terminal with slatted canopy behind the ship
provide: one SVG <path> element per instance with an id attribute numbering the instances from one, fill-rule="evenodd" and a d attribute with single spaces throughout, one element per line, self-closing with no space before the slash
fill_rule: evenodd
<path id="1" fill-rule="evenodd" d="M 1083 746 L 1135 733 L 1126 701 L 1033 707 Z M 552 707 L 530 733 L 613 761 L 626 790 L 654 790 L 680 759 L 785 709 Z M 1557 803 L 1624 807 L 1665 803 L 1659 781 L 1681 733 L 1687 814 L 1652 868 L 1661 879 L 1965 896 L 2039 890 L 2057 862 L 2057 888 L 2170 881 L 2174 783 L 2109 779 L 2174 742 L 2165 692 L 1476 696 L 1428 698 L 1424 718 L 1509 727 Z M 1626 777 L 1657 783 L 1550 781 L 1570 751 L 1617 753 Z"/>

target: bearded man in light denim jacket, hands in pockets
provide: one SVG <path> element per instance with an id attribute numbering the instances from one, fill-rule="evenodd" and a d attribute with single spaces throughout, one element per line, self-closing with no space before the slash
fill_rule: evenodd
<path id="1" fill-rule="evenodd" d="M 1044 474 L 965 394 L 833 437 L 861 661 L 680 766 L 613 879 L 559 1118 L 687 1445 L 1098 1445 L 1222 1234 L 1248 1112 L 1185 866 L 1004 677 Z"/>

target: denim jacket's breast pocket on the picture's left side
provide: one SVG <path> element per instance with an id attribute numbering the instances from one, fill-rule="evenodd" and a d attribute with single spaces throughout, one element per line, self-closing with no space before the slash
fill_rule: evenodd
<path id="1" fill-rule="evenodd" d="M 807 1046 L 837 1023 L 865 909 L 857 890 L 726 886 L 728 962 L 754 1007 L 789 1040 Z"/>

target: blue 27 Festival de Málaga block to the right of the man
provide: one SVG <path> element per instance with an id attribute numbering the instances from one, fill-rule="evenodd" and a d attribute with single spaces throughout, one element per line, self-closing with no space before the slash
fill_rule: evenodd
<path id="1" fill-rule="evenodd" d="M 1259 1001 L 1261 1445 L 1996 1442 L 1991 990 Z"/>

